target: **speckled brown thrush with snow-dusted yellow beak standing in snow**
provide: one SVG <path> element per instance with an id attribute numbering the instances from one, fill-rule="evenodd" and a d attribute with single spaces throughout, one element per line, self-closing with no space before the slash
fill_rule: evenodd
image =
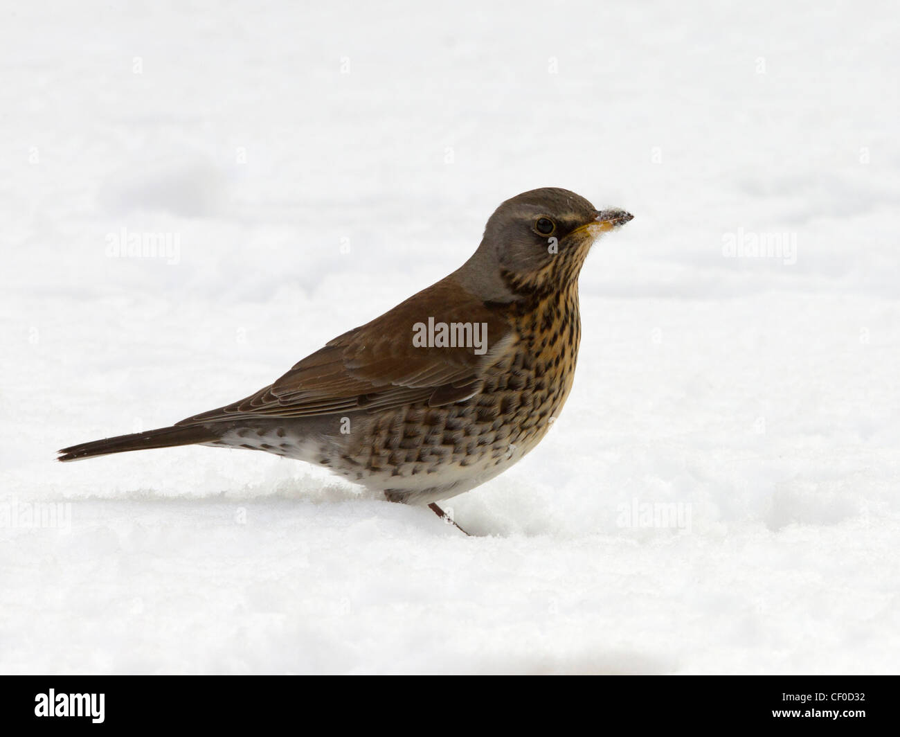
<path id="1" fill-rule="evenodd" d="M 581 341 L 581 267 L 594 241 L 632 218 L 560 187 L 511 197 L 462 267 L 273 384 L 169 427 L 72 445 L 58 460 L 191 444 L 263 450 L 452 522 L 438 502 L 509 469 L 559 416 Z"/>

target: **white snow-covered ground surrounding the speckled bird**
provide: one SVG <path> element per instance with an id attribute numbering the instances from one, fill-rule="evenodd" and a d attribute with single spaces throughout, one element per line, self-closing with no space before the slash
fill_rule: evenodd
<path id="1" fill-rule="evenodd" d="M 293 5 L 4 11 L 0 671 L 896 672 L 896 6 Z M 447 505 L 475 536 L 263 453 L 53 460 L 544 186 L 635 220 L 558 423 Z"/>

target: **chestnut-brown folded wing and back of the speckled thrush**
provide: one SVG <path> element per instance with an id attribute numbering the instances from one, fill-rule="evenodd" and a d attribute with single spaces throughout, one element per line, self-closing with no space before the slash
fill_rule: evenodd
<path id="1" fill-rule="evenodd" d="M 429 317 L 436 324 L 486 325 L 486 352 L 414 346 L 414 325 L 427 325 Z M 426 399 L 432 406 L 453 404 L 480 390 L 484 371 L 511 348 L 513 336 L 499 306 L 471 296 L 451 275 L 329 341 L 275 384 L 177 424 L 386 409 Z"/>

